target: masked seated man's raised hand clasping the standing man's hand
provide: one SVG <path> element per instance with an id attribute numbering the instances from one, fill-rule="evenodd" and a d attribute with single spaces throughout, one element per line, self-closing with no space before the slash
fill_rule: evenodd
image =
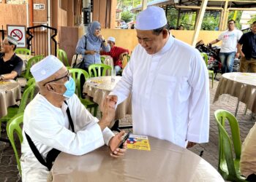
<path id="1" fill-rule="evenodd" d="M 99 120 L 99 127 L 104 130 L 105 127 L 108 127 L 110 122 L 113 121 L 116 114 L 116 107 L 111 104 L 113 101 L 110 101 L 110 98 L 107 96 L 103 101 L 102 106 L 102 119 Z"/>

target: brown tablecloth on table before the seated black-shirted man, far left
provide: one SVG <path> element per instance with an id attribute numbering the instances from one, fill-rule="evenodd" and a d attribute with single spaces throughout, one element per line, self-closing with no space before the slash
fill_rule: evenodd
<path id="1" fill-rule="evenodd" d="M 7 108 L 20 100 L 20 84 L 14 80 L 0 81 L 0 117 L 7 115 Z"/>

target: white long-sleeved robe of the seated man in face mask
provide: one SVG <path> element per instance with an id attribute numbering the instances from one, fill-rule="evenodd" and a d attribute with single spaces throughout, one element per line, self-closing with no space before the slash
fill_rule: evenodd
<path id="1" fill-rule="evenodd" d="M 23 118 L 22 181 L 47 181 L 48 168 L 34 157 L 24 131 L 30 136 L 42 157 L 55 148 L 68 154 L 83 155 L 108 145 L 113 132 L 107 127 L 101 130 L 98 119 L 80 103 L 77 95 L 67 100 L 75 132 L 69 127 L 67 105 L 53 106 L 42 95 L 37 95 L 26 107 Z"/>

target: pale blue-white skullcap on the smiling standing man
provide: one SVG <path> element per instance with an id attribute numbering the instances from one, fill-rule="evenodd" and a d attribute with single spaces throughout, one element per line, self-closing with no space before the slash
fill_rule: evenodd
<path id="1" fill-rule="evenodd" d="M 167 24 L 165 11 L 161 7 L 148 7 L 140 12 L 136 19 L 136 29 L 149 31 Z"/>

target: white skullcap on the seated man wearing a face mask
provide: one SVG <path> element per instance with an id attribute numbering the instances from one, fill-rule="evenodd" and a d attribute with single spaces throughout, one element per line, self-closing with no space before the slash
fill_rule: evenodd
<path id="1" fill-rule="evenodd" d="M 49 55 L 48 57 L 34 64 L 34 66 L 30 68 L 30 71 L 36 82 L 41 82 L 42 80 L 55 74 L 63 66 L 64 64 L 61 62 L 61 60 L 56 58 L 54 55 Z"/>

